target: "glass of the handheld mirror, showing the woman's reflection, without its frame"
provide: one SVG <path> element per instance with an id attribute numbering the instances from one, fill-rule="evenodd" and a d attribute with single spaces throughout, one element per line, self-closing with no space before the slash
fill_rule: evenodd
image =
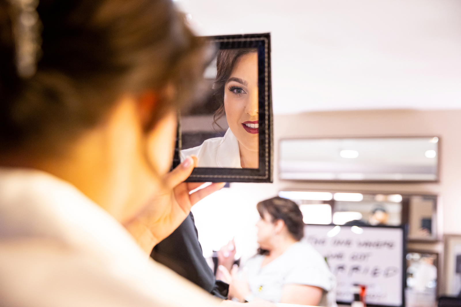
<path id="1" fill-rule="evenodd" d="M 181 162 L 203 168 L 259 168 L 258 53 L 222 49 L 205 71 L 208 93 L 181 116 Z"/>

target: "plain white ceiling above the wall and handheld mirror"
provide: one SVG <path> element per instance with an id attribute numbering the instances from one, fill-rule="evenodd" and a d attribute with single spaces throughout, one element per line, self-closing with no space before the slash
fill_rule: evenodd
<path id="1" fill-rule="evenodd" d="M 272 34 L 276 114 L 461 109 L 461 0 L 177 0 L 199 35 Z"/>

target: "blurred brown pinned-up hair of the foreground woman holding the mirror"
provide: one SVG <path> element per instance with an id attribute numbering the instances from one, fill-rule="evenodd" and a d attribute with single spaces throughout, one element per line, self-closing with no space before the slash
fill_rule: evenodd
<path id="1" fill-rule="evenodd" d="M 158 99 L 148 130 L 201 76 L 204 42 L 171 0 L 41 0 L 36 72 L 24 77 L 17 65 L 23 2 L 0 0 L 0 153 L 62 150 L 122 95 L 172 85 L 175 98 Z"/>

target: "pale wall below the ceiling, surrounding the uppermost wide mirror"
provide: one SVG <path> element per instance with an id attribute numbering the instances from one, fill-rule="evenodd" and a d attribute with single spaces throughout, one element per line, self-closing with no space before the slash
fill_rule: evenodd
<path id="1" fill-rule="evenodd" d="M 193 212 L 204 255 L 236 237 L 237 250 L 249 257 L 256 249 L 256 203 L 282 189 L 415 192 L 439 194 L 443 232 L 461 234 L 461 110 L 368 110 L 310 112 L 274 118 L 273 184 L 232 183 L 197 203 Z M 277 178 L 278 139 L 286 137 L 438 136 L 441 179 L 427 184 L 302 183 Z"/>

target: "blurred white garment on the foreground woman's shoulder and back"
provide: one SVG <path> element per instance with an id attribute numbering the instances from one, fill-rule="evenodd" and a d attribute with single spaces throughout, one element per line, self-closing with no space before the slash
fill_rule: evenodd
<path id="1" fill-rule="evenodd" d="M 0 168 L 0 276 L 0 306 L 219 304 L 74 186 L 34 170 Z"/>

